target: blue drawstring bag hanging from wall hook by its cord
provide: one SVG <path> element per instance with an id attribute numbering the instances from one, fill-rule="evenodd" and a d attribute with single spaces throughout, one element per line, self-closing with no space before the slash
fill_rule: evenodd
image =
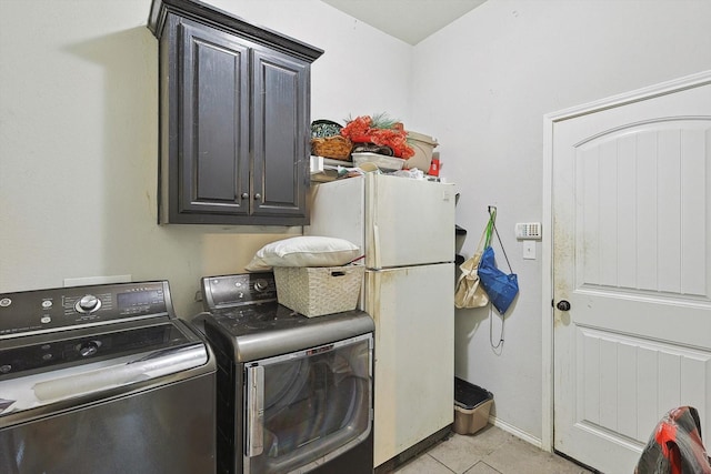
<path id="1" fill-rule="evenodd" d="M 511 270 L 511 264 L 509 263 L 505 251 L 503 251 L 503 255 L 507 258 L 507 264 L 511 273 L 507 274 L 497 268 L 493 249 L 491 248 L 491 235 L 495 232 L 499 243 L 501 243 L 501 238 L 495 228 L 495 220 L 497 210 L 493 208 L 493 211 L 491 211 L 491 209 L 489 211 L 487 240 L 484 251 L 479 261 L 478 274 L 481 286 L 487 292 L 487 295 L 489 295 L 489 301 L 491 301 L 491 304 L 503 315 L 519 293 L 519 279 Z M 503 250 L 503 245 L 501 245 L 501 250 Z"/>

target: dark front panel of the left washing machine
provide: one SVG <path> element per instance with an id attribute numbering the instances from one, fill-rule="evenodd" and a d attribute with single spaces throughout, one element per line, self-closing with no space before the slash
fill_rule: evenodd
<path id="1" fill-rule="evenodd" d="M 191 377 L 0 428 L 0 472 L 211 473 L 213 384 Z"/>

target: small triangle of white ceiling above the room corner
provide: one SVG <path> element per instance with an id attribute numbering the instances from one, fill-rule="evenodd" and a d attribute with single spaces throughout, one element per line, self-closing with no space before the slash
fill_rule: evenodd
<path id="1" fill-rule="evenodd" d="M 321 0 L 402 41 L 417 44 L 487 0 Z"/>

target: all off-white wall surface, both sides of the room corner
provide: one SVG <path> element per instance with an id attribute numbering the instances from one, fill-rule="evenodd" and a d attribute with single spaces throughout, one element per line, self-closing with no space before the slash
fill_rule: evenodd
<path id="1" fill-rule="evenodd" d="M 543 114 L 711 69 L 711 2 L 489 0 L 414 48 L 319 0 L 210 2 L 326 50 L 312 68 L 313 119 L 387 111 L 437 137 L 441 174 L 461 191 L 464 253 L 487 205 L 499 206 L 521 294 L 503 351 L 489 345 L 485 311 L 457 314 L 457 371 L 494 393 L 501 423 L 540 438 L 540 246 L 539 260 L 522 260 L 512 230 L 542 216 Z M 156 224 L 149 6 L 0 0 L 1 292 L 168 279 L 188 315 L 200 276 L 239 272 L 263 243 L 301 231 Z"/>

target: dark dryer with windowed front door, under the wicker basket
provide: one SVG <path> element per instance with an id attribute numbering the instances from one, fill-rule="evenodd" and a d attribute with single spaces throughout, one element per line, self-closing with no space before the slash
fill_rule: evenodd
<path id="1" fill-rule="evenodd" d="M 222 303 L 193 320 L 218 359 L 219 472 L 372 473 L 372 317 L 306 317 L 273 289 L 271 274 L 203 279 Z"/>

